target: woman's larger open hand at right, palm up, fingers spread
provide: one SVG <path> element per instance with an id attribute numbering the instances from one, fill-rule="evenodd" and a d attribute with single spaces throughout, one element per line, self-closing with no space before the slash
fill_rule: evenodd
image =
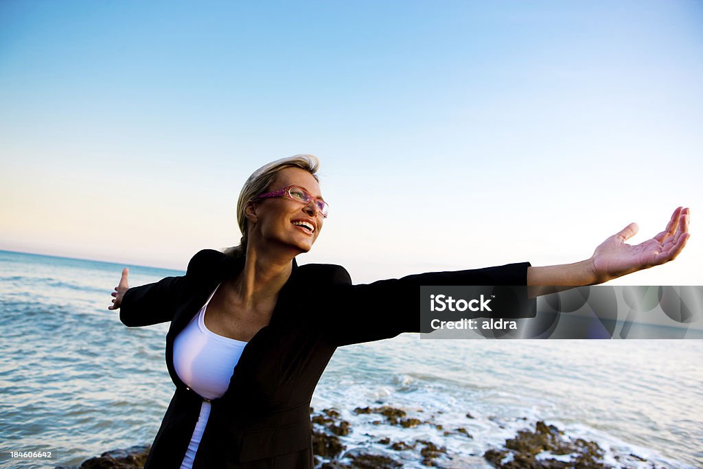
<path id="1" fill-rule="evenodd" d="M 690 237 L 689 217 L 688 208 L 678 207 L 673 211 L 664 231 L 638 245 L 625 243 L 638 232 L 636 223 L 628 224 L 622 231 L 607 238 L 595 248 L 591 257 L 597 283 L 675 259 Z"/>

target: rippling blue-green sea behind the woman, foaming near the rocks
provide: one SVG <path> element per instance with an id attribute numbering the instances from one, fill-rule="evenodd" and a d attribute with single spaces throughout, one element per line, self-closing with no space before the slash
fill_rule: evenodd
<path id="1" fill-rule="evenodd" d="M 127 328 L 108 310 L 124 266 L 131 285 L 183 275 L 0 251 L 0 467 L 78 466 L 153 442 L 174 392 L 168 324 Z M 702 364 L 703 340 L 404 334 L 338 349 L 311 405 L 349 421 L 347 450 L 424 439 L 469 461 L 456 467 L 490 468 L 481 457 L 487 449 L 543 420 L 568 438 L 597 442 L 612 467 L 701 468 Z M 393 406 L 435 425 L 378 425 L 354 412 L 365 406 Z M 395 457 L 425 467 L 411 453 Z"/>

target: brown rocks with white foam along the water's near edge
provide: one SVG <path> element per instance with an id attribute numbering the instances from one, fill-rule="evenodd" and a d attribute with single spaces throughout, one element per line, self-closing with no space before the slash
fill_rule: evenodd
<path id="1" fill-rule="evenodd" d="M 436 468 L 476 468 L 492 465 L 498 469 L 546 468 L 546 469 L 606 469 L 632 467 L 646 464 L 656 468 L 645 458 L 635 454 L 613 456 L 617 465 L 603 461 L 605 451 L 597 443 L 581 438 L 572 438 L 554 425 L 537 421 L 531 428 L 518 430 L 515 437 L 505 440 L 501 446 L 484 451 L 484 454 L 465 456 L 452 454 L 445 446 L 438 446 L 429 439 L 392 441 L 389 437 L 375 438 L 373 447 L 347 448 L 344 437 L 352 432 L 352 424 L 344 420 L 336 409 L 316 412 L 310 409 L 312 420 L 312 444 L 316 469 L 395 469 L 413 462 L 413 465 Z M 380 428 L 393 425 L 399 428 L 415 428 L 430 425 L 444 436 L 472 439 L 463 427 L 444 428 L 430 420 L 410 417 L 403 409 L 392 406 L 357 407 L 356 415 L 368 415 L 373 425 Z M 470 413 L 467 419 L 473 418 Z M 526 421 L 527 424 L 527 421 Z M 370 435 L 373 437 L 373 435 Z M 56 466 L 56 469 L 141 469 L 149 453 L 149 445 L 115 449 L 101 456 L 90 458 L 80 466 Z"/>

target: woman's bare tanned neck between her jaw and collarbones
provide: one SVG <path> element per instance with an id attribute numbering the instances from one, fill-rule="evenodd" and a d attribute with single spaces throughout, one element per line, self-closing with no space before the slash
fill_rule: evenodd
<path id="1" fill-rule="evenodd" d="M 245 307 L 256 309 L 257 305 L 278 297 L 290 277 L 294 256 L 291 252 L 262 250 L 256 245 L 247 245 L 244 268 L 233 285 Z"/>

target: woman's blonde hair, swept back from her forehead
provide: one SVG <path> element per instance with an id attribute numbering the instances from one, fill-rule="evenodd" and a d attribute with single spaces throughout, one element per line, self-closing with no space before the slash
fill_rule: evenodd
<path id="1" fill-rule="evenodd" d="M 244 186 L 242 186 L 242 191 L 239 193 L 239 199 L 237 200 L 237 223 L 242 232 L 242 239 L 238 246 L 224 249 L 223 252 L 226 255 L 231 257 L 243 257 L 246 255 L 249 226 L 244 207 L 254 197 L 271 189 L 269 186 L 273 184 L 273 181 L 276 181 L 276 177 L 282 169 L 291 167 L 305 169 L 319 181 L 315 173 L 320 167 L 320 162 L 315 155 L 293 155 L 288 158 L 281 158 L 254 171 L 244 183 Z"/>

